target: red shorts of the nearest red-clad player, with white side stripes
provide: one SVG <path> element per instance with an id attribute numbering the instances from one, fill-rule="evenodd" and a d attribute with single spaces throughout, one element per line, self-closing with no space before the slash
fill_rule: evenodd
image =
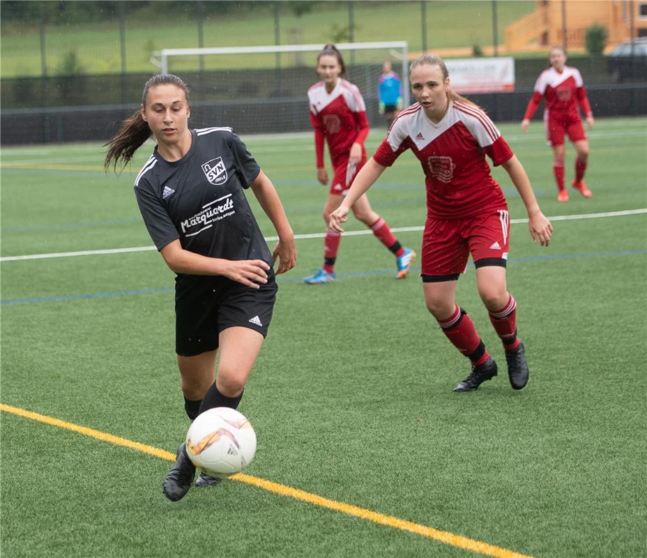
<path id="1" fill-rule="evenodd" d="M 423 281 L 458 279 L 469 255 L 476 267 L 505 267 L 510 247 L 508 208 L 459 219 L 428 218 L 423 233 Z"/>

